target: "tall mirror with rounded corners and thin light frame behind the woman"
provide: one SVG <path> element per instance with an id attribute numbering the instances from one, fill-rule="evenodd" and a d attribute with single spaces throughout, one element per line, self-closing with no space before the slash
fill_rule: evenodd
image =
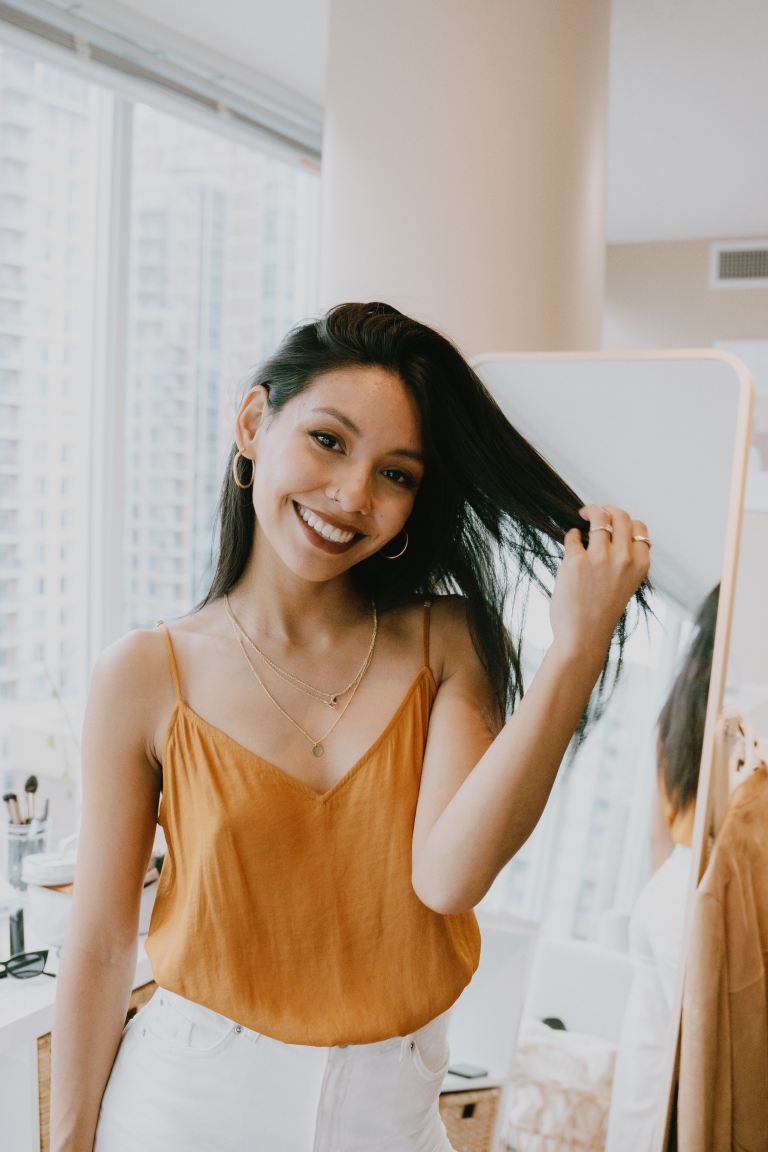
<path id="1" fill-rule="evenodd" d="M 449 1076 L 444 1089 L 497 1086 L 494 1147 L 661 1152 L 685 911 L 705 835 L 694 817 L 707 803 L 725 677 L 751 384 L 740 362 L 716 351 L 494 355 L 476 369 L 585 502 L 619 505 L 648 524 L 654 591 L 609 706 L 478 908 L 482 958 L 454 1007 L 450 1039 L 455 1062 L 487 1075 Z M 552 638 L 535 590 L 523 635 L 530 683 Z M 708 688 L 705 680 L 698 720 L 691 705 L 700 751 L 678 793 L 690 803 L 676 808 L 659 718 L 691 659 L 705 660 Z"/>

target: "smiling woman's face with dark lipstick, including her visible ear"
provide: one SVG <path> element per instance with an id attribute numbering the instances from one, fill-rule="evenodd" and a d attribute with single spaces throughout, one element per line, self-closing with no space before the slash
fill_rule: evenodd
<path id="1" fill-rule="evenodd" d="M 296 575 L 333 578 L 403 529 L 424 462 L 418 406 L 394 372 L 337 369 L 276 412 L 254 388 L 238 426 L 258 536 Z"/>

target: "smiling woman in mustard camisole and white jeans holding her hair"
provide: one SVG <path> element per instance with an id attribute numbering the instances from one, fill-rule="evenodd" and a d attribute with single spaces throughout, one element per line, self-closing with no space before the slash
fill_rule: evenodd
<path id="1" fill-rule="evenodd" d="M 289 333 L 235 440 L 207 596 L 93 670 L 53 1146 L 447 1150 L 472 909 L 645 607 L 647 530 L 580 508 L 453 344 L 386 304 Z M 557 578 L 505 720 L 509 550 Z M 155 818 L 158 988 L 121 1034 Z"/>

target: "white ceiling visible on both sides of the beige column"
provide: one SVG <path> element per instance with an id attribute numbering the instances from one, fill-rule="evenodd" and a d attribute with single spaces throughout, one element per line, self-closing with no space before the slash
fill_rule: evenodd
<path id="1" fill-rule="evenodd" d="M 330 0 L 123 7 L 325 94 Z M 609 242 L 768 234 L 768 0 L 613 0 Z"/>

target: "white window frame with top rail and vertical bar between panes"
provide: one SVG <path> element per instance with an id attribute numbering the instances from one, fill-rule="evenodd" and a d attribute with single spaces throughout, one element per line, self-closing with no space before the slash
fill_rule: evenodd
<path id="1" fill-rule="evenodd" d="M 66 15 L 66 14 L 64 14 Z M 64 16 L 62 15 L 62 18 Z M 68 17 L 67 17 L 68 18 Z M 311 147 L 281 141 L 254 124 L 237 122 L 220 104 L 206 108 L 146 79 L 131 77 L 0 18 L 0 46 L 18 51 L 67 71 L 99 89 L 97 221 L 93 244 L 89 477 L 86 516 L 90 525 L 81 609 L 85 626 L 78 695 L 85 699 L 99 653 L 124 631 L 122 624 L 122 547 L 126 484 L 130 223 L 135 106 L 183 119 L 233 143 L 319 174 Z M 204 48 L 200 52 L 204 53 Z M 241 66 L 242 71 L 242 66 Z M 200 89 L 205 84 L 201 82 Z M 286 106 L 290 114 L 291 109 Z M 295 109 L 294 109 L 295 111 Z"/>

